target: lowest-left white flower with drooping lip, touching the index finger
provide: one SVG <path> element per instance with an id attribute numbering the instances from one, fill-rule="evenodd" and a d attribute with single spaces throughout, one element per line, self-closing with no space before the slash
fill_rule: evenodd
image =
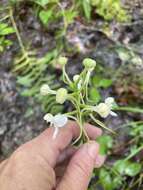
<path id="1" fill-rule="evenodd" d="M 50 123 L 50 125 L 55 128 L 54 134 L 53 134 L 53 139 L 55 139 L 57 137 L 59 128 L 64 127 L 68 122 L 67 116 L 63 115 L 63 114 L 57 114 L 57 115 L 53 116 L 52 114 L 47 113 L 44 116 L 44 120 L 47 121 L 47 123 Z"/>

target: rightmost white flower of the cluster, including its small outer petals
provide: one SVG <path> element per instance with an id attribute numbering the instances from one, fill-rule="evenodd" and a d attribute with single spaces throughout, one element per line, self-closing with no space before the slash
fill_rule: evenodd
<path id="1" fill-rule="evenodd" d="M 94 111 L 96 111 L 103 118 L 106 118 L 108 115 L 116 117 L 117 114 L 112 111 L 114 102 L 114 98 L 108 97 L 105 99 L 105 103 L 100 103 L 99 105 L 95 106 Z"/>

